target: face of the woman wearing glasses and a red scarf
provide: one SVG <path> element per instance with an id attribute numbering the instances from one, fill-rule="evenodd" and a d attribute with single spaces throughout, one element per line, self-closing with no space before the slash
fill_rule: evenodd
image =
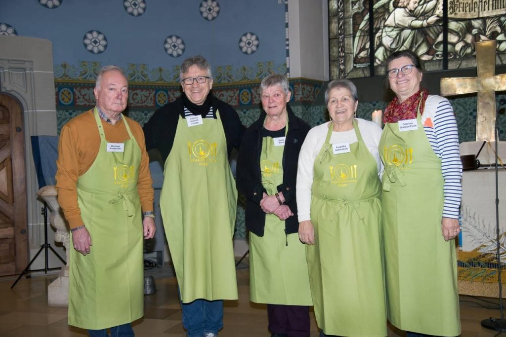
<path id="1" fill-rule="evenodd" d="M 390 61 L 388 64 L 388 70 L 401 69 L 408 64 L 413 64 L 410 58 L 403 56 Z M 423 73 L 418 68 L 413 67 L 411 73 L 405 75 L 402 71 L 395 78 L 388 78 L 390 87 L 397 95 L 400 102 L 404 102 L 407 98 L 412 96 L 418 90 L 420 90 L 420 82 L 423 77 Z"/>

